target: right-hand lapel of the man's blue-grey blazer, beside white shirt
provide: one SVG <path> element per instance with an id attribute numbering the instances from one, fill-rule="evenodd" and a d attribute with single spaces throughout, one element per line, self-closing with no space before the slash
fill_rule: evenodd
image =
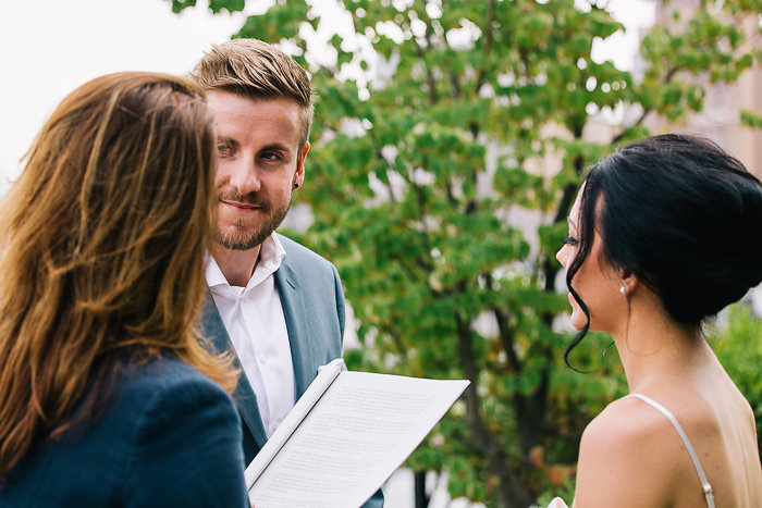
<path id="1" fill-rule="evenodd" d="M 299 292 L 299 277 L 296 271 L 288 265 L 286 259 L 281 263 L 281 268 L 275 271 L 275 285 L 281 297 L 283 315 L 288 330 L 291 357 L 294 363 L 294 376 L 296 377 L 296 398 L 299 398 L 315 379 L 318 365 L 315 365 L 315 354 L 309 339 L 307 310 Z"/>

